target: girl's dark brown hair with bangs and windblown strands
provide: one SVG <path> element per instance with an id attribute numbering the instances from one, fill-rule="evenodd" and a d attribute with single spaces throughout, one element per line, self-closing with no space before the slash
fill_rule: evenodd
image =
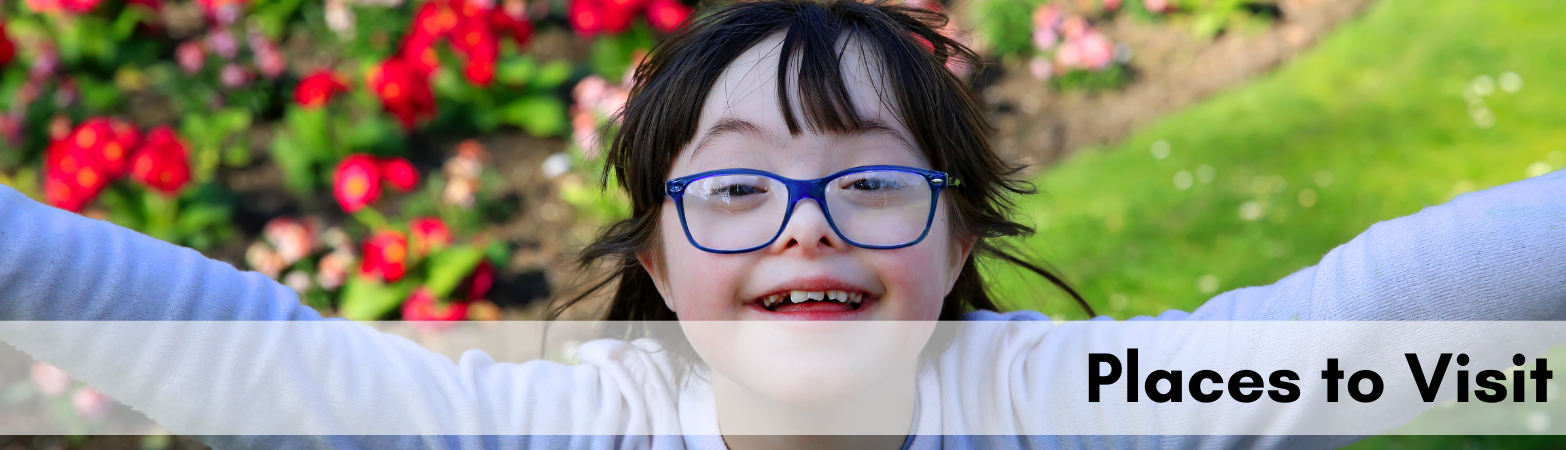
<path id="1" fill-rule="evenodd" d="M 880 97 L 896 107 L 897 119 L 932 168 L 962 182 L 944 199 L 954 234 L 977 238 L 952 292 L 941 306 L 941 320 L 960 320 L 965 312 L 996 310 L 976 262 L 999 259 L 1037 273 L 1065 290 L 1090 315 L 1093 309 L 1054 273 L 1029 263 L 993 240 L 1029 235 L 1032 229 L 1012 221 L 1012 198 L 1032 194 L 1015 179 L 1019 166 L 1004 161 L 990 147 L 991 127 L 985 108 L 949 61 L 977 67 L 979 56 L 941 34 L 946 16 L 883 0 L 763 0 L 717 5 L 698 13 L 680 33 L 655 47 L 636 69 L 636 85 L 619 113 L 619 129 L 609 138 L 604 179 L 614 177 L 631 199 L 631 218 L 598 235 L 579 256 L 586 270 L 608 274 L 575 298 L 556 303 L 548 318 L 612 285 L 603 320 L 678 320 L 637 254 L 658 245 L 664 180 L 680 151 L 695 138 L 702 105 L 719 75 L 742 52 L 775 33 L 785 33 L 778 64 L 778 102 L 791 135 L 803 130 L 850 132 L 866 125 L 849 99 L 843 80 L 843 42 L 857 38 L 877 56 L 886 86 Z M 799 103 L 786 94 L 791 66 L 797 66 Z M 802 114 L 803 119 L 796 114 Z"/>

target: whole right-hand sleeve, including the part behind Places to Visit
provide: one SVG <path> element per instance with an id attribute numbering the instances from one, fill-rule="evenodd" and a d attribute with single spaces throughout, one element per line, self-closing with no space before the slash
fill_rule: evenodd
<path id="1" fill-rule="evenodd" d="M 968 411 L 944 419 L 944 423 L 957 430 L 987 430 L 985 426 L 994 426 L 991 423 L 1005 423 L 1004 426 L 1010 426 L 1007 430 L 1029 436 L 1060 434 L 1060 430 L 1115 431 L 1087 434 L 1184 431 L 1168 436 L 1046 439 L 1063 445 L 1182 448 L 1342 445 L 1356 437 L 1298 434 L 1320 434 L 1320 430 L 1326 428 L 1323 423 L 1337 426 L 1333 430 L 1380 428 L 1370 433 L 1381 433 L 1416 417 L 1434 403 L 1397 397 L 1372 403 L 1353 405 L 1345 400 L 1347 403 L 1328 405 L 1322 401 L 1325 398 L 1322 379 L 1312 372 L 1311 367 L 1315 367 L 1312 364 L 1344 354 L 1373 354 L 1372 361 L 1389 361 L 1387 364 L 1395 365 L 1403 361 L 1402 351 L 1414 347 L 1538 351 L 1560 343 L 1560 339 L 1492 336 L 1483 332 L 1486 328 L 1463 328 L 1455 321 L 1481 325 L 1478 321 L 1563 318 L 1566 318 L 1566 171 L 1558 171 L 1458 196 L 1411 216 L 1378 223 L 1330 251 L 1315 267 L 1300 270 L 1272 285 L 1218 295 L 1195 312 L 1171 310 L 1124 323 L 1101 320 L 1049 323 L 1048 317 L 1037 312 L 971 314 L 969 320 L 1030 323 L 971 325 L 969 334 L 938 362 L 943 375 L 941 403 L 949 411 Z M 1292 340 L 1290 345 L 1253 345 L 1251 340 L 1267 339 L 1267 329 L 1261 329 L 1267 326 L 1264 321 L 1342 325 L 1322 329 L 1362 328 L 1361 332 L 1309 336 L 1306 342 Z M 1409 329 L 1427 334 L 1377 329 L 1398 329 L 1398 323 L 1389 321 L 1408 321 Z M 1414 321 L 1447 321 L 1447 331 L 1413 328 Z M 1140 356 L 1143 381 L 1154 368 L 1185 368 L 1185 376 L 1200 368 L 1217 368 L 1223 376 L 1229 376 L 1234 373 L 1234 362 L 1242 361 L 1245 364 L 1240 367 L 1250 365 L 1245 368 L 1261 370 L 1262 376 L 1276 368 L 1303 368 L 1298 372 L 1303 378 L 1298 383 L 1301 400 L 1248 405 L 1220 400 L 1201 405 L 1185 397 L 1179 405 L 1154 405 L 1143 397 L 1142 401 L 1131 403 L 1123 401 L 1126 381 L 1121 379 L 1113 387 L 1104 387 L 1109 392 L 1106 401 L 1090 403 L 1085 398 L 1087 354 L 1113 353 L 1126 357 L 1128 348 L 1137 347 L 1143 350 Z M 1159 351 L 1149 351 L 1149 347 Z M 1469 351 L 1469 354 L 1475 357 L 1470 367 L 1511 365 L 1511 351 L 1505 354 Z M 1400 370 L 1400 373 L 1383 372 L 1387 376 L 1387 392 L 1394 389 L 1413 392 L 1408 386 L 1411 383 L 1408 368 Z M 1438 401 L 1452 395 L 1455 389 L 1444 389 Z M 1356 423 L 1364 426 L 1355 428 Z M 1200 436 L 1212 434 L 1212 430 L 1250 430 L 1247 434 L 1251 436 Z"/>

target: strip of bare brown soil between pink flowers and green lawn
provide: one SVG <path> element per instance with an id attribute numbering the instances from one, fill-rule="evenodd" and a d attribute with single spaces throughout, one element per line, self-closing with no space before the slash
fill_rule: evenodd
<path id="1" fill-rule="evenodd" d="M 1145 20 L 1104 24 L 1104 33 L 1134 50 L 1135 80 L 1115 93 L 1059 93 L 1029 75 L 1024 63 L 1005 63 L 1004 75 L 983 91 L 996 111 L 996 149 L 1038 168 L 1084 146 L 1113 144 L 1138 125 L 1287 61 L 1372 2 L 1284 0 L 1281 20 L 1268 30 L 1217 39 Z"/>

